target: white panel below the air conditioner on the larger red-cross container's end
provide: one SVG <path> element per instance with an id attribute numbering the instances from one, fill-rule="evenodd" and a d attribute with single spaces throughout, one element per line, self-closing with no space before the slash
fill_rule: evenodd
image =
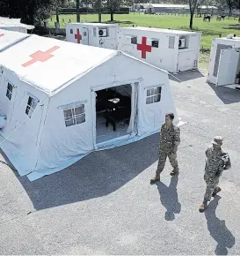
<path id="1" fill-rule="evenodd" d="M 178 72 L 186 72 L 196 67 L 196 51 L 183 51 L 178 53 Z"/>

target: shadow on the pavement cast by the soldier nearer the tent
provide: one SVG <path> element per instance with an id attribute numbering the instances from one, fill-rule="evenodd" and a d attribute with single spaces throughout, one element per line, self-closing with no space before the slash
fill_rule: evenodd
<path id="1" fill-rule="evenodd" d="M 171 184 L 166 186 L 164 183 L 159 182 L 156 184 L 160 195 L 162 205 L 166 208 L 165 220 L 173 221 L 175 214 L 181 211 L 181 204 L 178 201 L 178 177 L 171 177 Z"/>

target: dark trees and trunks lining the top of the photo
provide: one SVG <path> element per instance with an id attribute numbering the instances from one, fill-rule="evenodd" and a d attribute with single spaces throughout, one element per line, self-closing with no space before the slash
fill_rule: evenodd
<path id="1" fill-rule="evenodd" d="M 160 0 L 151 0 L 159 2 Z M 138 0 L 138 2 L 140 2 Z M 149 0 L 142 0 L 142 3 Z M 189 4 L 190 9 L 190 29 L 193 29 L 193 16 L 195 11 L 202 5 L 216 6 L 219 10 L 228 9 L 229 15 L 234 9 L 240 9 L 240 0 L 161 0 L 161 3 L 168 4 Z M 0 0 L 0 16 L 21 19 L 22 23 L 29 25 L 38 25 L 40 21 L 49 19 L 52 15 L 59 14 L 60 7 L 76 8 L 76 20 L 80 22 L 81 5 L 91 4 L 98 11 L 98 22 L 101 22 L 101 13 L 103 9 L 111 14 L 120 9 L 121 5 L 131 6 L 134 0 Z M 58 20 L 59 21 L 59 20 Z"/>

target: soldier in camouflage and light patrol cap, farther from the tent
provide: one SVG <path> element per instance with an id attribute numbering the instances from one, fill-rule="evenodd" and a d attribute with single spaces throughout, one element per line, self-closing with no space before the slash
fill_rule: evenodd
<path id="1" fill-rule="evenodd" d="M 205 153 L 207 162 L 204 180 L 207 183 L 207 189 L 203 203 L 200 206 L 200 212 L 204 212 L 207 207 L 207 201 L 210 201 L 212 196 L 215 197 L 218 192 L 221 192 L 221 188 L 217 186 L 219 178 L 222 175 L 223 169 L 229 169 L 231 167 L 229 154 L 222 150 L 222 140 L 221 136 L 216 136 L 212 141 L 213 146 L 208 147 Z"/>

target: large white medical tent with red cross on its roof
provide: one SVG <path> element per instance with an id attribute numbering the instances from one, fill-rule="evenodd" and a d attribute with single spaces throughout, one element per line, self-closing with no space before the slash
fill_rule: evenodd
<path id="1" fill-rule="evenodd" d="M 112 49 L 31 35 L 0 53 L 0 71 L 0 147 L 30 180 L 159 132 L 176 113 L 168 73 Z M 103 99 L 130 102 L 127 124 L 106 127 Z"/>

